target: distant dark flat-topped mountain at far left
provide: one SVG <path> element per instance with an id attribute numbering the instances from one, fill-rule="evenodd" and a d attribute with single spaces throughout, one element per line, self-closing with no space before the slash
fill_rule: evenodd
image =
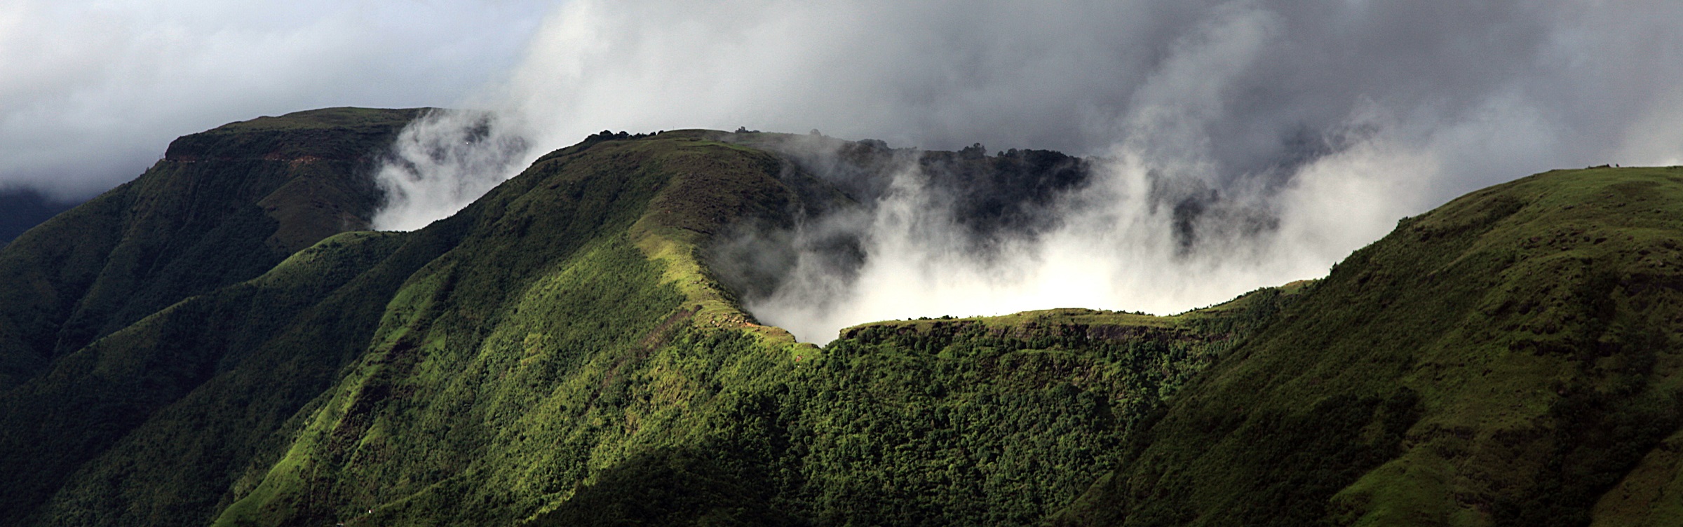
<path id="1" fill-rule="evenodd" d="M 188 135 L 140 178 L 0 249 L 0 391 L 182 298 L 367 229 L 360 177 L 419 109 L 332 108 Z"/>

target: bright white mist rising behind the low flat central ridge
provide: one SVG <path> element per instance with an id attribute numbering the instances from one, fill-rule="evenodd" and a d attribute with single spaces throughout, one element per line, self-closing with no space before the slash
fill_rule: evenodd
<path id="1" fill-rule="evenodd" d="M 1099 160 L 1091 185 L 1045 214 L 1057 227 L 1001 236 L 980 256 L 951 204 L 926 189 L 916 163 L 865 214 L 801 226 L 798 259 L 783 283 L 747 308 L 804 340 L 887 318 L 1005 315 L 1055 306 L 1176 313 L 1256 286 L 1318 278 L 1397 219 L 1426 207 L 1441 170 L 1429 152 L 1368 138 L 1293 172 L 1279 189 L 1230 185 L 1198 216 L 1192 244 L 1176 236 L 1165 178 L 1195 178 L 1198 162 L 1165 165 L 1126 146 Z M 811 229 L 815 232 L 804 232 Z M 850 231 L 867 254 L 857 274 L 836 273 L 816 241 Z M 722 263 L 729 264 L 729 263 Z"/>

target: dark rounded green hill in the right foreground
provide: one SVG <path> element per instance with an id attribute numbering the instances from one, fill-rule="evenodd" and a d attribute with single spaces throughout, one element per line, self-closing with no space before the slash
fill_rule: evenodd
<path id="1" fill-rule="evenodd" d="M 1091 525 L 1675 525 L 1683 170 L 1405 219 L 1187 387 Z"/>

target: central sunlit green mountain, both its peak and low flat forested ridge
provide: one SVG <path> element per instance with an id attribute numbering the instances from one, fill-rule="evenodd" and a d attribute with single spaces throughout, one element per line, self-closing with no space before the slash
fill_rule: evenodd
<path id="1" fill-rule="evenodd" d="M 217 524 L 1035 522 L 1237 338 L 1104 315 L 796 343 L 698 254 L 788 221 L 803 175 L 709 136 L 592 140 L 416 232 L 461 234 Z M 1244 320 L 1286 298 L 1257 295 Z"/>

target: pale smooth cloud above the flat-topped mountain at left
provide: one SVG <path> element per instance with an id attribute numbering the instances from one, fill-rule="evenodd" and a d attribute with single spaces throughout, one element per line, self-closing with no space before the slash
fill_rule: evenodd
<path id="1" fill-rule="evenodd" d="M 542 0 L 7 0 L 0 190 L 86 199 L 170 140 L 327 106 L 439 106 L 507 71 Z"/>

